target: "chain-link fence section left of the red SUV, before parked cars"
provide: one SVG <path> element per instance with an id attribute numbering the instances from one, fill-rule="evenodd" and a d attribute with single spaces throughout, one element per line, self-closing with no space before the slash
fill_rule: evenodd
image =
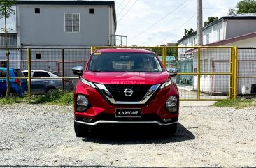
<path id="1" fill-rule="evenodd" d="M 28 77 L 30 65 L 31 94 L 45 94 L 57 89 L 73 91 L 78 77 L 73 75 L 71 69 L 74 66 L 85 66 L 90 52 L 90 48 L 10 49 L 10 68 L 18 68 L 25 77 Z M 0 49 L 0 65 L 6 67 L 5 49 Z M 15 78 L 22 79 L 22 77 Z M 2 81 L 6 82 L 6 79 Z"/>

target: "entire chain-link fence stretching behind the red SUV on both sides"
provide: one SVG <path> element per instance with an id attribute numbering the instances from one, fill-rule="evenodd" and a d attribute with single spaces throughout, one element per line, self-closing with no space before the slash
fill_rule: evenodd
<path id="1" fill-rule="evenodd" d="M 106 47 L 94 47 L 101 48 Z M 162 56 L 166 67 L 177 68 L 178 75 L 173 77 L 173 82 L 178 86 L 181 100 L 225 100 L 235 95 L 234 89 L 238 94 L 256 92 L 255 48 L 238 49 L 237 70 L 234 69 L 234 47 L 129 48 L 150 49 Z M 31 90 L 34 91 L 32 94 L 46 93 L 55 88 L 72 91 L 78 77 L 73 75 L 71 68 L 85 66 L 90 52 L 90 48 L 10 49 L 10 68 L 20 68 L 24 75 L 28 76 L 27 70 L 30 65 Z M 169 55 L 174 56 L 176 60 L 166 59 Z M 6 66 L 5 49 L 0 49 L 0 66 Z"/>

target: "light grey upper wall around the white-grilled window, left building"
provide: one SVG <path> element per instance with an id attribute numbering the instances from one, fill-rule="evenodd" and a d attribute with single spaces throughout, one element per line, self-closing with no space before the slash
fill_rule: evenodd
<path id="1" fill-rule="evenodd" d="M 40 13 L 34 9 L 40 8 Z M 94 14 L 89 14 L 94 8 Z M 80 14 L 80 32 L 65 33 L 64 14 Z M 109 6 L 24 6 L 17 7 L 18 44 L 38 46 L 108 45 L 114 33 Z M 113 17 L 113 16 L 112 16 Z"/>

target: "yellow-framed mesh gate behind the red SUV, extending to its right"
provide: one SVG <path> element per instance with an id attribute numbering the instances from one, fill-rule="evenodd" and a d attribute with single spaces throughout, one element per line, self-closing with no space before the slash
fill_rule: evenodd
<path id="1" fill-rule="evenodd" d="M 216 46 L 216 47 L 207 47 L 207 46 L 187 46 L 187 47 L 178 47 L 178 46 L 159 46 L 159 47 L 91 47 L 91 51 L 94 52 L 96 49 L 106 49 L 106 48 L 134 48 L 134 49 L 162 49 L 162 63 L 164 67 L 167 67 L 167 49 L 177 49 L 182 50 L 185 49 L 185 52 L 194 54 L 193 58 L 193 70 L 192 72 L 178 72 L 178 76 L 182 75 L 190 75 L 190 78 L 193 79 L 192 89 L 190 91 L 186 91 L 180 85 L 179 81 L 176 82 L 177 86 L 180 91 L 180 100 L 225 100 L 227 98 L 234 99 L 237 96 L 237 47 L 234 46 Z M 218 59 L 214 59 L 218 58 Z M 223 59 L 227 58 L 227 59 Z M 196 60 L 197 59 L 197 60 Z M 210 60 L 210 62 L 208 61 Z M 204 63 L 202 63 L 204 61 Z M 229 62 L 229 63 L 226 63 Z M 224 72 L 221 70 L 217 70 L 215 72 L 214 65 L 216 64 L 218 68 L 223 68 Z M 208 65 L 211 67 L 209 68 Z M 224 65 L 222 67 L 222 65 Z M 197 66 L 195 68 L 194 66 Z M 204 69 L 202 68 L 204 66 Z M 229 66 L 227 69 L 225 66 Z M 213 70 L 211 70 L 213 68 Z M 227 70 L 225 70 L 227 69 Z M 228 80 L 229 78 L 229 80 Z M 196 80 L 194 80 L 196 79 Z M 209 79 L 208 82 L 206 79 Z M 211 81 L 210 81 L 211 80 Z M 191 81 L 186 80 L 189 83 Z M 196 81 L 196 82 L 195 82 Z M 226 84 L 225 81 L 228 81 L 229 84 Z M 218 82 L 220 82 L 218 84 Z M 222 82 L 222 83 L 221 83 Z M 207 86 L 207 84 L 212 86 Z M 185 84 L 184 84 L 185 85 Z M 204 86 L 201 86 L 204 85 Z M 216 87 L 227 85 L 227 92 L 225 91 L 222 93 L 221 90 L 226 90 L 225 88 L 217 89 Z M 204 91 L 207 90 L 206 88 L 210 88 L 211 91 Z M 220 90 L 214 92 L 215 90 Z M 211 92 L 211 93 L 210 93 Z M 193 96 L 189 96 L 188 94 L 194 94 Z M 218 94 L 220 94 L 218 96 Z M 226 95 L 227 96 L 222 96 Z"/>

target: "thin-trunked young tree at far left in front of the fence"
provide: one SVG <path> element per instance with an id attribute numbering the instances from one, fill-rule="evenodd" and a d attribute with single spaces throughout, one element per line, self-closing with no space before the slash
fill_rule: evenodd
<path id="1" fill-rule="evenodd" d="M 10 50 L 8 49 L 8 43 L 7 43 L 7 25 L 6 25 L 6 19 L 9 18 L 11 15 L 15 15 L 15 11 L 12 9 L 12 6 L 15 4 L 15 1 L 13 0 L 0 0 L 0 19 L 4 18 L 4 33 L 5 33 L 5 43 L 6 43 L 6 68 L 7 68 L 7 74 L 6 74 L 6 83 L 7 83 L 7 90 L 6 90 L 6 99 L 10 96 L 10 63 L 9 63 L 9 56 L 10 56 Z"/>

